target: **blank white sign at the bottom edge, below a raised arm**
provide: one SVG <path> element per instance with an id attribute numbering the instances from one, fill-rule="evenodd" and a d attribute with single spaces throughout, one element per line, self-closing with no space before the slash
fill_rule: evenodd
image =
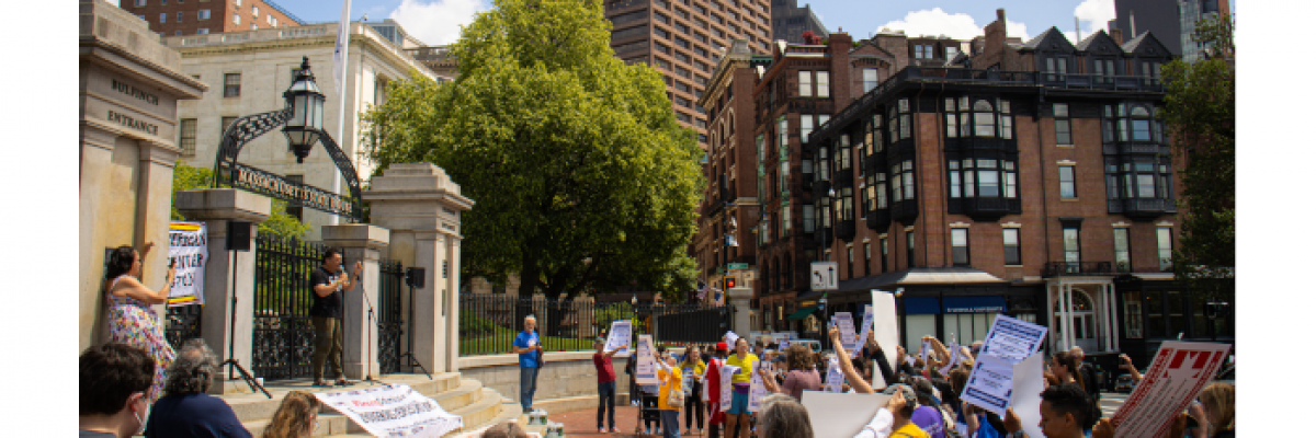
<path id="1" fill-rule="evenodd" d="M 804 391 L 800 404 L 809 414 L 813 437 L 854 437 L 887 404 L 883 393 L 830 393 Z"/>

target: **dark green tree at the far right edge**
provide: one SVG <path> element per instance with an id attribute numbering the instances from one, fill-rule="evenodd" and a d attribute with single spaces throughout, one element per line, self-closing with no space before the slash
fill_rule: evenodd
<path id="1" fill-rule="evenodd" d="M 1233 24 L 1203 18 L 1194 38 L 1207 43 L 1207 58 L 1162 70 L 1162 117 L 1183 163 L 1174 272 L 1192 293 L 1219 299 L 1232 293 L 1234 267 Z"/>

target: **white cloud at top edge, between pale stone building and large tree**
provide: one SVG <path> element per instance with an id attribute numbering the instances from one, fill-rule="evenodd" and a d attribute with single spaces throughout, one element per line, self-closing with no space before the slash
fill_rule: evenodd
<path id="1" fill-rule="evenodd" d="M 480 0 L 403 0 L 388 14 L 426 45 L 449 45 L 462 36 L 459 26 L 475 21 L 475 13 L 488 8 Z"/>

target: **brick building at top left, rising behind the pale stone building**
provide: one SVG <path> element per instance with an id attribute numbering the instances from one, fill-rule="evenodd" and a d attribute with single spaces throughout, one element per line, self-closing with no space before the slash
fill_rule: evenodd
<path id="1" fill-rule="evenodd" d="M 161 37 L 300 26 L 301 20 L 268 0 L 120 0 Z"/>

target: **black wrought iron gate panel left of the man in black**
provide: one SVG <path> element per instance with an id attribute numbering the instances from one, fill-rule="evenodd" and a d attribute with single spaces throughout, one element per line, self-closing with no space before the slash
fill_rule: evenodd
<path id="1" fill-rule="evenodd" d="M 257 376 L 311 377 L 316 342 L 311 272 L 320 268 L 325 249 L 274 234 L 257 235 L 251 335 L 251 372 Z"/>

